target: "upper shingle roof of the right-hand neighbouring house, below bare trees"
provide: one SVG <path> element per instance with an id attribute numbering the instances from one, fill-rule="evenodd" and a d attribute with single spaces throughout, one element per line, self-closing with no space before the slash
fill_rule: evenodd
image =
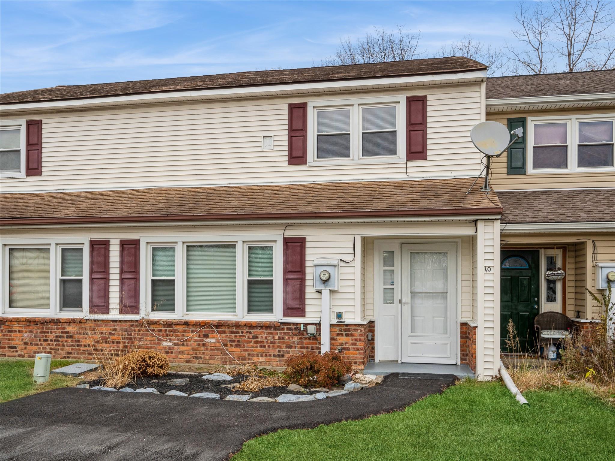
<path id="1" fill-rule="evenodd" d="M 489 77 L 487 99 L 615 92 L 615 70 Z"/>

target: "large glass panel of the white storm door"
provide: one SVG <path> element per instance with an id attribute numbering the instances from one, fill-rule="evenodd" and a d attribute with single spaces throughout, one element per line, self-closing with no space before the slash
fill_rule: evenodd
<path id="1" fill-rule="evenodd" d="M 410 253 L 410 333 L 448 333 L 448 253 Z"/>

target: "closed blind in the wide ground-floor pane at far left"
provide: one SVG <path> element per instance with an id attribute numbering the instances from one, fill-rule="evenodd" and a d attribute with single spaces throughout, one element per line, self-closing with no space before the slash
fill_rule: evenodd
<path id="1" fill-rule="evenodd" d="M 9 307 L 49 309 L 49 248 L 9 249 Z"/>

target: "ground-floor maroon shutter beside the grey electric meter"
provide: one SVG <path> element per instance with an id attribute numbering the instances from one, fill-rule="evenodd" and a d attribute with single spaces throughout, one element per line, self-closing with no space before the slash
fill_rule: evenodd
<path id="1" fill-rule="evenodd" d="M 284 317 L 306 315 L 306 238 L 284 237 Z"/>

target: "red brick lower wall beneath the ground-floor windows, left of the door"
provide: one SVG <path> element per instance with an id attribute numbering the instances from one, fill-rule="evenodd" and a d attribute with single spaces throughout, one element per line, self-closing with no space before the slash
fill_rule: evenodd
<path id="1" fill-rule="evenodd" d="M 122 352 L 137 348 L 158 350 L 172 363 L 236 363 L 224 352 L 220 339 L 238 361 L 258 366 L 284 366 L 290 355 L 320 352 L 320 336 L 306 337 L 299 323 L 151 318 L 146 321 L 151 331 L 164 339 L 149 333 L 143 322 L 137 320 L 2 318 L 0 355 L 31 358 L 46 352 L 54 358 L 95 360 L 93 349 L 113 347 Z M 331 325 L 331 350 L 341 347 L 344 358 L 355 368 L 363 369 L 370 355 L 373 357 L 374 341 L 367 340 L 368 331 L 373 333 L 373 322 Z M 169 342 L 188 336 L 191 337 L 186 341 Z"/>

